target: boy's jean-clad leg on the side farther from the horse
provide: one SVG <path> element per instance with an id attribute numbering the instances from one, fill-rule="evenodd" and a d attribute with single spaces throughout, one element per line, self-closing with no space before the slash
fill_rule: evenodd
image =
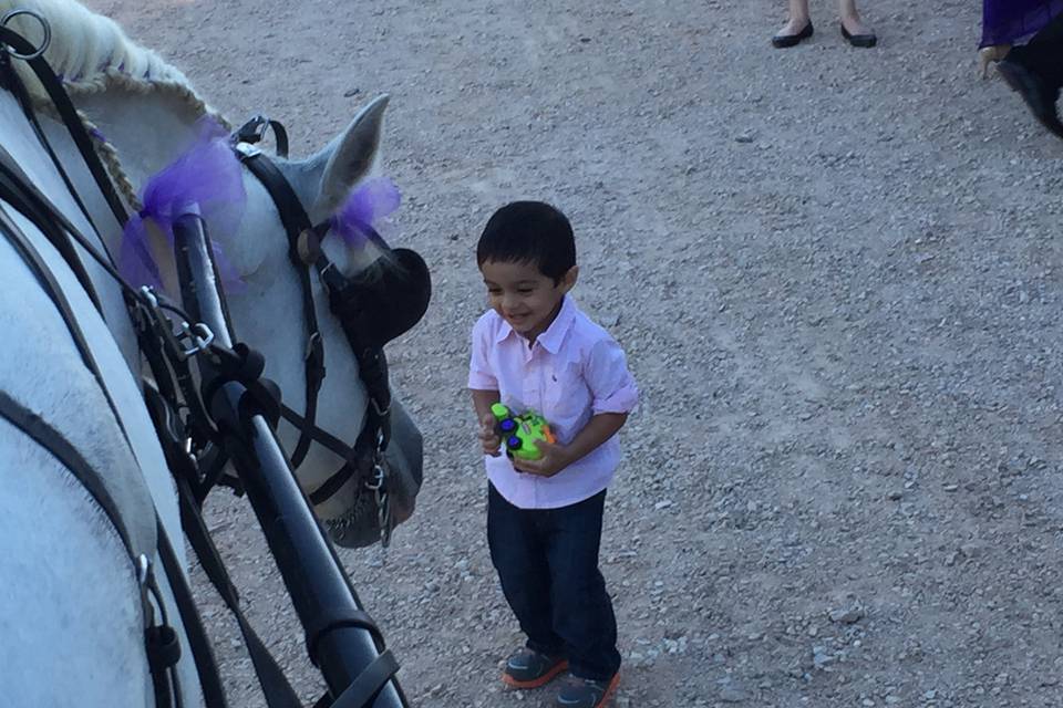
<path id="1" fill-rule="evenodd" d="M 606 492 L 548 517 L 554 631 L 565 639 L 574 676 L 609 681 L 620 668 L 617 620 L 598 569 Z"/>

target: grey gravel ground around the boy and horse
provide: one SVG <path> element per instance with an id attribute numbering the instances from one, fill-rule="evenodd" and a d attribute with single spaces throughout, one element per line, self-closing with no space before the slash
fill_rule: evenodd
<path id="1" fill-rule="evenodd" d="M 92 1 L 297 154 L 393 97 L 436 287 L 390 347 L 426 479 L 388 553 L 341 556 L 414 705 L 551 705 L 497 680 L 518 633 L 464 389 L 475 239 L 520 197 L 571 216 L 576 295 L 643 392 L 601 554 L 617 706 L 1063 702 L 1063 143 L 976 77 L 976 2 L 867 2 L 869 51 L 818 2 L 780 52 L 782 4 Z M 314 698 L 251 513 L 211 524 Z M 234 704 L 261 705 L 219 607 Z"/>

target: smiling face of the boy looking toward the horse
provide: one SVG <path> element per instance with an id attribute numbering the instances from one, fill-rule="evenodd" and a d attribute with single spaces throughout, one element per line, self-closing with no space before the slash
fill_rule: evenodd
<path id="1" fill-rule="evenodd" d="M 484 261 L 479 267 L 487 285 L 487 301 L 514 330 L 529 341 L 546 332 L 561 309 L 565 293 L 576 284 L 579 269 L 569 269 L 555 283 L 534 263 Z"/>

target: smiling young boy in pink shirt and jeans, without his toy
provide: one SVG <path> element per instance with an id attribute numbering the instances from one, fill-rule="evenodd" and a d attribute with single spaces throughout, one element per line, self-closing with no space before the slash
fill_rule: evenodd
<path id="1" fill-rule="evenodd" d="M 535 688 L 566 668 L 565 708 L 603 706 L 619 680 L 617 621 L 598 570 L 617 431 L 638 399 L 623 352 L 576 306 L 572 228 L 560 211 L 517 201 L 476 248 L 491 310 L 473 327 L 468 387 L 487 456 L 487 541 L 502 590 L 527 635 L 503 680 Z M 491 405 L 543 415 L 556 444 L 535 460 L 499 452 Z"/>

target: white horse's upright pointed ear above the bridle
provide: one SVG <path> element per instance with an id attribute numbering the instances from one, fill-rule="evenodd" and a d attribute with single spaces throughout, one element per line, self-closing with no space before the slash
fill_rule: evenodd
<path id="1" fill-rule="evenodd" d="M 372 167 L 389 100 L 383 95 L 362 108 L 343 133 L 310 158 L 314 166 L 324 163 L 320 187 L 309 209 L 314 223 L 331 216 Z"/>

